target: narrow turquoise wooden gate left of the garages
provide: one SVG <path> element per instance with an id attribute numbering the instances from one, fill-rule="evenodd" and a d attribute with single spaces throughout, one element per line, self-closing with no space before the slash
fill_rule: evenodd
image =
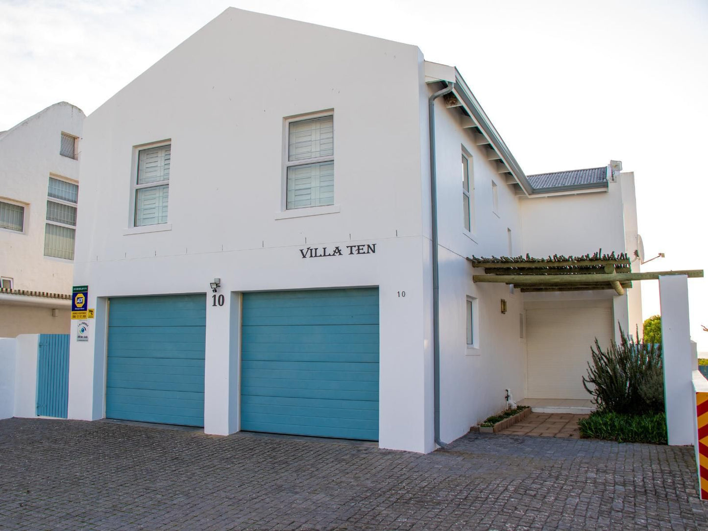
<path id="1" fill-rule="evenodd" d="M 37 416 L 67 418 L 69 334 L 40 333 L 37 349 Z"/>

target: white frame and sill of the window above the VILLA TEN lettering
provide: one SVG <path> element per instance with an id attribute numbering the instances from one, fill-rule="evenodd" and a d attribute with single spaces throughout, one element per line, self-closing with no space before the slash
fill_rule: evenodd
<path id="1" fill-rule="evenodd" d="M 312 159 L 298 159 L 290 161 L 290 124 L 292 122 L 302 122 L 304 120 L 312 120 L 314 118 L 332 117 L 332 154 L 331 156 L 317 156 Z M 314 216 L 321 214 L 333 214 L 340 211 L 339 205 L 336 203 L 336 193 L 333 193 L 331 205 L 318 205 L 314 207 L 287 207 L 287 169 L 292 166 L 304 166 L 307 164 L 318 164 L 320 162 L 334 162 L 334 154 L 336 152 L 336 127 L 334 123 L 334 109 L 319 110 L 315 113 L 306 113 L 295 116 L 288 116 L 283 119 L 282 127 L 282 182 L 281 182 L 281 200 L 280 212 L 276 213 L 275 219 L 288 219 L 291 217 Z M 336 188 L 336 173 L 333 177 L 334 186 Z"/>

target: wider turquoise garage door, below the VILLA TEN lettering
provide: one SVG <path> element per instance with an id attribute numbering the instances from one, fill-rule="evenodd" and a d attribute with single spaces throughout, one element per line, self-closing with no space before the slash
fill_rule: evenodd
<path id="1" fill-rule="evenodd" d="M 379 438 L 379 290 L 244 293 L 241 429 Z"/>

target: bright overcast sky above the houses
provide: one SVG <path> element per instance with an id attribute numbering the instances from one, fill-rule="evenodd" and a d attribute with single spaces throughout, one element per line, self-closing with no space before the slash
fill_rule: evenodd
<path id="1" fill-rule="evenodd" d="M 457 66 L 526 173 L 635 172 L 646 258 L 666 253 L 644 270 L 708 269 L 707 0 L 0 0 L 0 130 L 57 101 L 88 115 L 229 5 Z M 645 318 L 657 284 L 642 282 Z M 708 351 L 708 280 L 689 292 Z"/>

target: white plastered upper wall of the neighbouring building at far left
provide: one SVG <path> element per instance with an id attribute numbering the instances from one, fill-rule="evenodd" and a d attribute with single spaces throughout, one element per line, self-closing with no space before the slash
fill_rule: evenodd
<path id="1" fill-rule="evenodd" d="M 0 135 L 0 199 L 25 205 L 23 232 L 0 229 L 0 275 L 18 290 L 71 292 L 72 261 L 44 256 L 47 186 L 50 175 L 78 181 L 79 161 L 59 145 L 62 132 L 81 137 L 83 122 L 81 109 L 61 102 Z"/>

